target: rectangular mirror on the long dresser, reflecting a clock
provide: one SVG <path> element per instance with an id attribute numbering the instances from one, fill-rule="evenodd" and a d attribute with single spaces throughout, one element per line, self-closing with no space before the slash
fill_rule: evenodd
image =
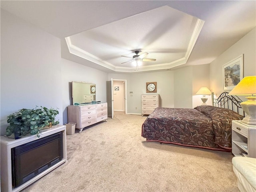
<path id="1" fill-rule="evenodd" d="M 96 100 L 96 85 L 72 81 L 72 100 L 75 103 L 91 103 Z"/>

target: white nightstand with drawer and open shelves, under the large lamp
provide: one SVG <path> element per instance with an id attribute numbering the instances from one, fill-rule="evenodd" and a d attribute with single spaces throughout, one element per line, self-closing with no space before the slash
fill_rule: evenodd
<path id="1" fill-rule="evenodd" d="M 256 158 L 256 125 L 232 121 L 232 154 Z"/>

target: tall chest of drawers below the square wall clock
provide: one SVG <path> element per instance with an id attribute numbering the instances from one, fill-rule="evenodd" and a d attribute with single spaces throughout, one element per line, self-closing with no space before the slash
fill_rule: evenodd
<path id="1" fill-rule="evenodd" d="M 141 114 L 150 115 L 155 108 L 160 107 L 159 94 L 142 94 L 141 95 Z"/>

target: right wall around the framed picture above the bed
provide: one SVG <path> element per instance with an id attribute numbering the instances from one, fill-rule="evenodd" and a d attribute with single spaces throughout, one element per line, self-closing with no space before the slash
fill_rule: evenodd
<path id="1" fill-rule="evenodd" d="M 242 54 L 244 54 L 244 76 L 256 75 L 255 28 L 210 64 L 210 88 L 217 96 L 223 92 L 222 66 Z"/>

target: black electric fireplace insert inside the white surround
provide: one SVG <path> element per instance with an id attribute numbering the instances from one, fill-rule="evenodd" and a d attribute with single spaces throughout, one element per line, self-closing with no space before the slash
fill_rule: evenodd
<path id="1" fill-rule="evenodd" d="M 60 162 L 62 133 L 12 148 L 12 186 L 17 187 Z"/>

